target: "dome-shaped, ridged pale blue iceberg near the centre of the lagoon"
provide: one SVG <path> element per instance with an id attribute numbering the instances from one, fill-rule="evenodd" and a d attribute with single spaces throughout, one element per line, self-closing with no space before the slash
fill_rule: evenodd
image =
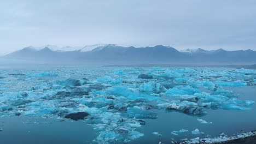
<path id="1" fill-rule="evenodd" d="M 160 83 L 156 83 L 154 81 L 150 81 L 148 83 L 144 83 L 143 85 L 139 86 L 139 91 L 141 92 L 165 92 L 167 89 L 163 87 Z"/>

